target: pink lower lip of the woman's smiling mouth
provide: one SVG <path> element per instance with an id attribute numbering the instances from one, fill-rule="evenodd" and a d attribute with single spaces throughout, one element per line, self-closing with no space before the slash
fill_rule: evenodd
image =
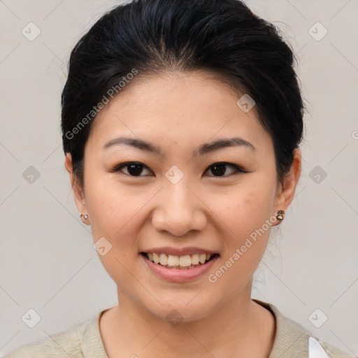
<path id="1" fill-rule="evenodd" d="M 201 275 L 210 270 L 210 268 L 219 257 L 215 256 L 213 259 L 210 259 L 210 261 L 206 262 L 206 264 L 202 264 L 194 268 L 166 268 L 160 264 L 151 262 L 150 259 L 144 255 L 139 255 L 142 257 L 145 264 L 147 264 L 154 273 L 159 275 L 161 278 L 164 278 L 164 280 L 171 282 L 187 282 L 199 278 Z"/>

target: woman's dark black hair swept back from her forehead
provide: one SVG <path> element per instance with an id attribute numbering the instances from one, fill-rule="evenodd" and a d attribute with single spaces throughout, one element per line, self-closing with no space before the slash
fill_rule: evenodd
<path id="1" fill-rule="evenodd" d="M 81 186 L 97 106 L 134 76 L 165 71 L 208 71 L 249 94 L 273 139 L 282 183 L 303 138 L 304 108 L 294 54 L 280 31 L 238 0 L 134 0 L 105 13 L 71 51 L 62 140 Z"/>

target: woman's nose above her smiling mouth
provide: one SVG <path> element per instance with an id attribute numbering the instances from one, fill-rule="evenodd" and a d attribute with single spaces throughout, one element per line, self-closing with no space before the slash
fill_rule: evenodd
<path id="1" fill-rule="evenodd" d="M 173 236 L 185 236 L 189 231 L 202 230 L 206 225 L 206 206 L 186 180 L 173 184 L 165 182 L 157 195 L 152 226 Z"/>

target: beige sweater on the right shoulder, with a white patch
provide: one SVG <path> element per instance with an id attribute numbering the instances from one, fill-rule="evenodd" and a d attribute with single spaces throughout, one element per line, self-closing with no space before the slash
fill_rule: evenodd
<path id="1" fill-rule="evenodd" d="M 257 299 L 253 301 L 270 310 L 275 317 L 275 339 L 271 354 L 268 358 L 324 357 L 320 355 L 320 353 L 317 353 L 317 351 L 313 352 L 314 347 L 310 348 L 310 341 L 317 341 L 317 345 L 322 347 L 319 349 L 324 350 L 329 358 L 358 358 L 358 356 L 352 352 L 345 352 L 344 350 L 334 347 L 334 345 L 321 341 L 320 338 L 301 326 L 301 324 L 282 315 L 280 310 L 273 306 L 273 304 Z M 310 340 L 310 337 L 314 338 L 314 340 Z"/>

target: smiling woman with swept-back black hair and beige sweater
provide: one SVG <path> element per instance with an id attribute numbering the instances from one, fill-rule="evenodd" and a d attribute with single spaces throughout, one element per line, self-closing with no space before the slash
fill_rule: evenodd
<path id="1" fill-rule="evenodd" d="M 237 0 L 138 0 L 71 52 L 76 206 L 118 304 L 13 357 L 354 357 L 251 299 L 301 173 L 294 56 Z"/>

